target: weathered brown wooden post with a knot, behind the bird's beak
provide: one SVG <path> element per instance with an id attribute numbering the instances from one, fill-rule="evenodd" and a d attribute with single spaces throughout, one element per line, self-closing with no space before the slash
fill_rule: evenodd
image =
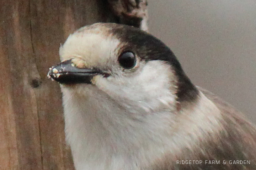
<path id="1" fill-rule="evenodd" d="M 107 3 L 0 1 L 0 170 L 74 170 L 60 88 L 47 72 L 59 62 L 59 46 L 74 30 L 120 21 Z"/>

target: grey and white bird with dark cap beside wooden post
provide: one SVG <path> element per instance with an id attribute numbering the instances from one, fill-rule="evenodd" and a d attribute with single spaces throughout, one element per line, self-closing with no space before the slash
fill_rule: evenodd
<path id="1" fill-rule="evenodd" d="M 70 34 L 60 84 L 76 170 L 255 170 L 256 129 L 194 85 L 161 40 L 95 23 Z"/>

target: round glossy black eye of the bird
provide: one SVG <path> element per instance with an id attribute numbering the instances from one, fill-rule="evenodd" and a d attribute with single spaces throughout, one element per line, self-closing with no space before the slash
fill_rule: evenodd
<path id="1" fill-rule="evenodd" d="M 124 52 L 118 57 L 120 66 L 125 69 L 131 69 L 136 65 L 136 57 L 132 52 Z"/>

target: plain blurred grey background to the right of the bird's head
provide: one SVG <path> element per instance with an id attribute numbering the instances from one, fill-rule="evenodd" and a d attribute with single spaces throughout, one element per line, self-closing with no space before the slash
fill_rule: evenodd
<path id="1" fill-rule="evenodd" d="M 149 32 L 192 82 L 256 124 L 256 1 L 149 0 Z"/>

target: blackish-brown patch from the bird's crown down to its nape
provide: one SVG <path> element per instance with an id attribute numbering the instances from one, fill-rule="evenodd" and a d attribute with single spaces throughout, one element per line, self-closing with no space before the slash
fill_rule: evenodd
<path id="1" fill-rule="evenodd" d="M 191 102 L 197 99 L 197 88 L 184 73 L 174 53 L 162 41 L 138 28 L 119 24 L 113 24 L 111 27 L 110 32 L 127 44 L 124 50 L 137 53 L 142 60 L 162 60 L 172 66 L 178 78 L 178 102 Z"/>

